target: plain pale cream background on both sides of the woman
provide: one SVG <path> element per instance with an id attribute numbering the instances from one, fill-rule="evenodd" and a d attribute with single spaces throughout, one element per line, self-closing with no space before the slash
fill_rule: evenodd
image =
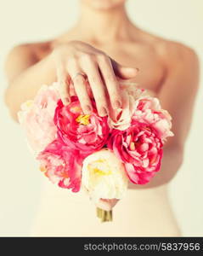
<path id="1" fill-rule="evenodd" d="M 29 236 L 44 177 L 27 150 L 20 126 L 4 106 L 3 61 L 14 44 L 41 41 L 69 29 L 77 17 L 78 1 L 1 0 L 0 5 L 0 236 Z M 202 63 L 203 0 L 129 0 L 127 10 L 145 30 L 194 48 Z M 202 92 L 200 86 L 183 166 L 170 184 L 183 236 L 203 236 Z"/>

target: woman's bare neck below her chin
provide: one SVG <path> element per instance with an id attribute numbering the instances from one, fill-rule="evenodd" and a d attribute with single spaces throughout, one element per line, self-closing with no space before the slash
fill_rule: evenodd
<path id="1" fill-rule="evenodd" d="M 89 40 L 103 44 L 103 42 L 128 39 L 131 26 L 133 25 L 123 5 L 102 11 L 82 5 L 81 16 L 75 28 Z"/>

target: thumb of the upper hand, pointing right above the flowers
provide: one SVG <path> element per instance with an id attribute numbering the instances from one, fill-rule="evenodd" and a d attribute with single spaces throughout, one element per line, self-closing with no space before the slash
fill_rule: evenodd
<path id="1" fill-rule="evenodd" d="M 110 59 L 110 61 L 116 76 L 120 77 L 121 79 L 133 79 L 137 76 L 139 71 L 138 67 L 124 67 L 112 59 Z"/>

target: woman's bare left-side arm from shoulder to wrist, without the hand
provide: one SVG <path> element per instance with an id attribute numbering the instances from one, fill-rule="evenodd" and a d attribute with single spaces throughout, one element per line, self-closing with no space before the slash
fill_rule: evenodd
<path id="1" fill-rule="evenodd" d="M 55 80 L 53 62 L 48 55 L 42 61 L 27 45 L 15 47 L 8 54 L 5 71 L 8 88 L 5 91 L 5 102 L 11 116 L 17 121 L 20 104 L 32 99 L 42 84 L 51 84 Z"/>

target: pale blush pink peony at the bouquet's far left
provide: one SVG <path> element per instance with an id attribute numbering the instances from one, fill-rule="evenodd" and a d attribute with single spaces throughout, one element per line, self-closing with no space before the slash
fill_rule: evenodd
<path id="1" fill-rule="evenodd" d="M 21 105 L 18 113 L 20 125 L 25 130 L 27 142 L 34 151 L 42 151 L 56 137 L 54 112 L 59 100 L 57 84 L 43 85 L 33 101 Z"/>

